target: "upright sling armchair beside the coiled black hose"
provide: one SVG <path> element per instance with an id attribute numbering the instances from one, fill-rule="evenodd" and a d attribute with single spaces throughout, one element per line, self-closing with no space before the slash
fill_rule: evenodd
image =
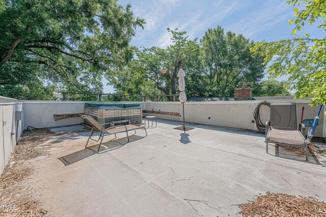
<path id="1" fill-rule="evenodd" d="M 308 144 L 305 138 L 305 125 L 300 123 L 297 129 L 295 103 L 271 103 L 270 104 L 270 126 L 265 123 L 266 152 L 268 153 L 268 142 L 276 144 L 303 147 L 306 150 L 306 161 L 308 161 Z"/>

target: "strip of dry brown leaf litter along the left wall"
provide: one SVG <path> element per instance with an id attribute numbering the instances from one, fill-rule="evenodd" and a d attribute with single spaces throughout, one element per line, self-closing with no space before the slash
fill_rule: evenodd
<path id="1" fill-rule="evenodd" d="M 24 183 L 28 182 L 28 177 L 34 173 L 29 160 L 48 154 L 47 145 L 42 144 L 52 136 L 53 133 L 48 129 L 22 133 L 9 163 L 0 176 L 0 216 L 43 216 L 46 213 L 32 197 L 29 185 Z M 7 207 L 4 207 L 5 205 Z"/>

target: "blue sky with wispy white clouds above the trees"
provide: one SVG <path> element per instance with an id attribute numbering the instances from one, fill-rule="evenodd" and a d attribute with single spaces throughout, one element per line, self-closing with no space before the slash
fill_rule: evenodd
<path id="1" fill-rule="evenodd" d="M 131 41 L 138 47 L 167 47 L 171 43 L 168 27 L 186 31 L 194 39 L 201 38 L 208 28 L 221 25 L 225 31 L 243 34 L 254 41 L 288 38 L 292 30 L 288 19 L 293 17 L 293 7 L 286 5 L 285 0 L 123 0 L 119 4 L 129 2 L 134 14 L 147 22 L 144 29 L 137 29 Z M 305 32 L 312 37 L 324 36 L 316 25 L 305 26 L 300 34 Z M 103 80 L 104 92 L 113 92 L 106 83 Z"/>

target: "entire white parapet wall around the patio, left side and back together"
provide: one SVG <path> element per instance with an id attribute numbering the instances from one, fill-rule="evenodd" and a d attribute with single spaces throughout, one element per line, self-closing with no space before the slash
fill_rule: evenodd
<path id="1" fill-rule="evenodd" d="M 185 119 L 187 122 L 203 125 L 216 125 L 232 128 L 257 130 L 253 113 L 262 101 L 229 101 L 229 102 L 187 102 L 185 103 Z M 313 119 L 318 106 L 310 107 L 309 100 L 270 100 L 269 103 L 296 103 L 297 122 L 301 120 L 302 107 L 305 107 L 303 119 Z M 2 172 L 19 139 L 23 129 L 74 125 L 83 122 L 83 118 L 73 117 L 55 120 L 55 114 L 83 113 L 85 101 L 19 101 L 0 97 L 0 171 Z M 126 102 L 131 103 L 131 102 Z M 182 121 L 182 105 L 179 102 L 134 102 L 140 103 L 144 110 L 178 112 L 180 116 L 154 114 L 158 118 Z M 15 111 L 22 111 L 23 120 L 16 121 Z M 319 116 L 319 125 L 315 135 L 326 137 L 325 107 Z M 263 122 L 269 119 L 269 108 L 261 107 Z M 153 115 L 146 114 L 143 115 Z M 6 124 L 4 124 L 6 120 Z M 308 130 L 307 130 L 308 132 Z M 13 134 L 13 135 L 12 135 Z"/>

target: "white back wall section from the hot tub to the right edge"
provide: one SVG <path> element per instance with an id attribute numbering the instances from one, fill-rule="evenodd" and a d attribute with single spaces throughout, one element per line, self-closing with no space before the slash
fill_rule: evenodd
<path id="1" fill-rule="evenodd" d="M 262 101 L 226 101 L 226 102 L 187 102 L 185 103 L 185 119 L 187 122 L 201 123 L 203 125 L 216 125 L 223 127 L 257 130 L 254 120 L 254 110 Z M 309 100 L 270 100 L 269 103 L 296 103 L 297 126 L 301 121 L 302 107 L 304 106 L 303 119 L 314 119 L 319 106 L 309 106 Z M 146 102 L 146 110 L 179 112 L 182 115 L 182 106 L 179 102 Z M 324 121 L 325 107 L 319 116 L 319 125 L 315 135 L 326 137 L 326 124 Z M 145 115 L 152 115 L 146 114 Z M 158 118 L 180 120 L 182 116 L 154 114 Z M 269 120 L 269 108 L 260 107 L 261 120 Z M 209 118 L 210 117 L 210 118 Z M 307 129 L 308 132 L 308 129 Z"/>

